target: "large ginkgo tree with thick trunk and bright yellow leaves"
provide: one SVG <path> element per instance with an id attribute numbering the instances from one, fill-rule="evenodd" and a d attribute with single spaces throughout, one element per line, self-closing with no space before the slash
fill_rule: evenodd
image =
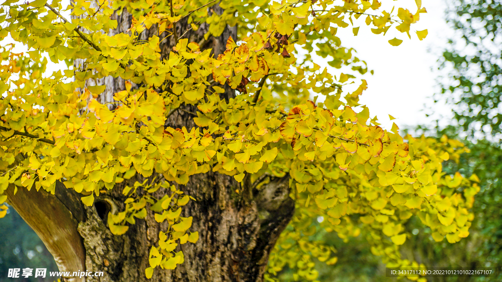
<path id="1" fill-rule="evenodd" d="M 60 270 L 100 281 L 274 281 L 286 266 L 316 280 L 314 259 L 337 260 L 318 228 L 418 265 L 400 258 L 403 225 L 468 236 L 478 180 L 442 172 L 458 141 L 370 118 L 366 65 L 336 36 L 411 37 L 416 3 L 7 0 L 0 38 L 28 51 L 0 47 L 0 203 Z"/>

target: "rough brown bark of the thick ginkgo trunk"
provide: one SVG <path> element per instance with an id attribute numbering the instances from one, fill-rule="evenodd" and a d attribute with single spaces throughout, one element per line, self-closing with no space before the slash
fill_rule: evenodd
<path id="1" fill-rule="evenodd" d="M 210 12 L 221 14 L 222 10 L 215 6 Z M 127 11 L 120 16 L 114 14 L 112 18 L 117 20 L 118 27 L 110 35 L 127 32 L 131 26 L 132 18 Z M 202 40 L 207 27 L 202 26 L 196 32 L 189 30 L 189 27 L 186 22 L 178 23 L 177 34 L 184 35 L 189 41 L 204 42 L 201 47 L 212 48 L 214 56 L 224 51 L 229 36 L 236 38 L 236 27 L 226 27 L 221 36 L 207 41 Z M 144 32 L 142 39 L 148 39 L 149 33 L 154 30 L 155 26 Z M 162 57 L 168 56 L 174 44 L 172 37 L 161 43 Z M 77 60 L 75 67 L 79 63 L 81 61 Z M 106 77 L 86 83 L 107 86 L 99 98 L 102 103 L 112 101 L 114 92 L 125 89 L 124 81 L 120 78 Z M 226 87 L 222 95 L 229 98 L 235 93 Z M 188 109 L 176 111 L 166 125 L 174 128 L 195 126 L 193 116 L 188 112 L 197 109 Z M 103 277 L 84 277 L 86 281 L 146 281 L 145 268 L 149 266 L 150 246 L 157 242 L 159 231 L 165 230 L 165 226 L 154 220 L 153 213 L 149 213 L 145 220 L 137 220 L 122 236 L 112 235 L 106 226 L 107 213 L 124 208 L 125 198 L 121 194 L 123 185 L 132 185 L 135 180 L 142 181 L 141 176 L 129 183 L 117 184 L 116 189 L 96 198 L 92 207 L 84 207 L 79 201 L 81 195 L 68 192 L 71 190 L 62 184 L 58 185 L 57 192 L 65 193 L 61 192 L 63 196 L 59 196 L 58 201 L 52 200 L 53 196 L 45 195 L 30 203 L 40 209 L 45 209 L 45 205 L 57 205 L 60 210 L 46 217 L 53 225 L 54 222 L 55 225 L 61 222 L 62 216 L 71 217 L 65 219 L 69 225 L 67 229 L 71 231 L 69 234 L 79 237 L 66 242 L 75 250 L 70 255 L 67 249 L 54 246 L 57 242 L 54 238 L 60 236 L 59 231 L 48 232 L 44 227 L 46 221 L 34 220 L 29 214 L 33 207 L 23 203 L 22 195 L 26 193 L 9 197 L 15 209 L 24 215 L 23 218 L 32 228 L 39 235 L 43 234 L 41 237 L 57 258 L 60 270 L 77 271 L 79 269 L 73 267 L 85 261 L 82 267 L 86 271 L 104 271 Z M 199 232 L 199 240 L 196 244 L 178 246 L 184 253 L 185 262 L 175 270 L 156 268 L 150 281 L 262 281 L 269 253 L 293 216 L 294 202 L 289 197 L 289 178 L 275 179 L 260 191 L 249 190 L 250 201 L 241 198 L 244 193 L 235 193 L 236 189 L 244 189 L 232 177 L 213 172 L 191 176 L 187 185 L 179 185 L 178 188 L 196 199 L 185 206 L 182 216 L 193 216 L 191 230 Z M 162 197 L 161 194 L 157 196 Z M 62 211 L 65 207 L 67 210 Z M 78 234 L 75 234 L 75 230 Z M 74 255 L 79 249 L 84 252 L 81 257 Z"/>

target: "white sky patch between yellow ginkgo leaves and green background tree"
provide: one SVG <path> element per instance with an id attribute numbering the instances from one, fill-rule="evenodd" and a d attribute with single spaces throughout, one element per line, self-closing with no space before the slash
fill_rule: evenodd
<path id="1" fill-rule="evenodd" d="M 390 4 L 385 10 L 390 12 L 392 5 L 405 7 L 411 13 L 417 11 L 414 0 L 382 1 Z M 361 95 L 360 103 L 366 104 L 370 116 L 376 115 L 386 129 L 395 122 L 400 128 L 404 125 L 431 124 L 443 116 L 449 119 L 451 110 L 446 106 L 434 105 L 432 94 L 436 89 L 438 50 L 445 46 L 447 39 L 453 36 L 453 31 L 446 25 L 444 0 L 422 0 L 426 14 L 420 14 L 420 21 L 412 25 L 412 30 L 428 30 L 428 36 L 419 41 L 415 32 L 410 32 L 411 40 L 406 33 L 400 33 L 394 27 L 385 35 L 371 33 L 370 27 L 362 24 L 357 36 L 353 36 L 349 26 L 338 29 L 337 36 L 342 39 L 342 45 L 352 47 L 357 51 L 357 57 L 366 61 L 369 72 L 363 76 L 368 83 L 368 89 Z M 396 11 L 394 11 L 396 13 Z M 364 20 L 363 17 L 359 20 Z M 354 26 L 357 26 L 356 24 Z M 391 46 L 389 40 L 397 37 L 403 40 L 399 46 Z M 431 49 L 436 52 L 428 52 Z M 432 70 L 431 68 L 435 68 Z M 428 109 L 425 110 L 424 109 Z M 426 117 L 434 109 L 434 117 Z M 389 114 L 396 119 L 390 121 Z M 447 120 L 445 120 L 446 123 Z"/>

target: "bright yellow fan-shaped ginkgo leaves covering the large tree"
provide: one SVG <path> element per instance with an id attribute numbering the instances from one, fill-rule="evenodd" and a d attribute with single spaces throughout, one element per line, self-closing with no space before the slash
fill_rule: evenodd
<path id="1" fill-rule="evenodd" d="M 358 103 L 365 81 L 344 95 L 346 103 L 341 101 L 342 86 L 367 69 L 352 49 L 341 46 L 337 28 L 364 17 L 375 34 L 399 24 L 396 28 L 409 35 L 410 25 L 425 12 L 420 1 L 417 13 L 400 8 L 397 16 L 381 11 L 376 0 L 346 0 L 339 6 L 328 0 L 223 0 L 221 15 L 211 12 L 216 2 L 207 0 L 99 4 L 73 2 L 66 9 L 74 16 L 71 21 L 60 16 L 64 9 L 58 1 L 17 5 L 8 0 L 0 8 L 0 21 L 6 23 L 0 39 L 10 35 L 31 48 L 25 55 L 0 47 L 0 204 L 8 184 L 54 193 L 56 181 L 63 181 L 91 206 L 100 193 L 136 173 L 156 172 L 162 183 L 177 184 L 209 170 L 239 182 L 246 174 L 252 180 L 289 174 L 297 214 L 271 256 L 269 274 L 288 263 L 307 280 L 317 277 L 312 257 L 336 262 L 333 249 L 308 240 L 317 230 L 312 218 L 318 216 L 325 219 L 324 230 L 342 238 L 364 232 L 373 253 L 402 265 L 409 262 L 400 260 L 397 246 L 409 236 L 402 227 L 414 214 L 431 227 L 435 240 L 446 236 L 456 242 L 468 235 L 475 179 L 441 171 L 443 161 L 462 152 L 461 144 L 425 137 L 405 142 L 397 126 L 383 130 Z M 371 10 L 376 14 L 368 14 Z M 130 33 L 109 36 L 107 31 L 117 27 L 110 15 L 125 11 L 133 15 Z M 189 42 L 176 34 L 173 27 L 182 19 L 193 30 L 207 24 L 204 40 Z M 238 39 L 229 38 L 226 50 L 214 58 L 205 42 L 235 25 Z M 145 40 L 146 29 L 157 33 Z M 354 27 L 354 34 L 358 30 Z M 417 34 L 423 39 L 427 31 Z M 164 58 L 160 44 L 171 38 L 176 45 Z M 330 66 L 350 66 L 352 72 L 337 79 L 327 68 L 321 70 L 310 55 L 314 46 Z M 305 59 L 297 58 L 301 48 Z M 53 62 L 71 65 L 81 59 L 82 64 L 44 76 L 42 52 Z M 96 84 L 104 77 L 125 81 L 112 93 L 113 103 L 97 100 L 109 90 Z M 225 85 L 241 94 L 222 99 Z M 310 101 L 311 94 L 325 100 Z M 197 126 L 166 126 L 167 118 L 186 105 L 196 105 Z M 192 218 L 180 216 L 188 196 L 162 185 L 126 187 L 126 209 L 108 218 L 117 235 L 127 232 L 127 223 L 144 218 L 148 205 L 158 222 L 168 221 L 170 229 L 151 249 L 147 277 L 157 266 L 173 269 L 182 263 L 183 254 L 174 249 L 198 236 L 186 233 Z M 171 193 L 161 199 L 134 196 L 140 186 Z"/>

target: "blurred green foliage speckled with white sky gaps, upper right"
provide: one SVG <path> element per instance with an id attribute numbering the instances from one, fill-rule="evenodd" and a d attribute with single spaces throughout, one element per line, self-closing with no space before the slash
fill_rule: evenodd
<path id="1" fill-rule="evenodd" d="M 455 0 L 448 7 L 457 40 L 450 40 L 440 59 L 448 77 L 436 99 L 456 104 L 455 119 L 464 131 L 495 135 L 502 131 L 502 2 Z"/>

